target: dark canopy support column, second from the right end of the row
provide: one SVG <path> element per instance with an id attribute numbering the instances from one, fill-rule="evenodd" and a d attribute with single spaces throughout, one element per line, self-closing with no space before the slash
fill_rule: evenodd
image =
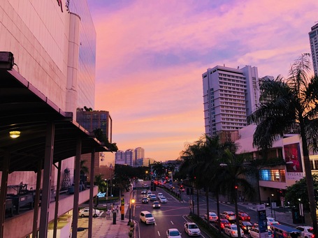
<path id="1" fill-rule="evenodd" d="M 82 140 L 78 137 L 76 143 L 75 174 L 74 174 L 74 202 L 72 238 L 78 237 L 78 200 L 80 196 L 80 155 L 82 154 Z"/>

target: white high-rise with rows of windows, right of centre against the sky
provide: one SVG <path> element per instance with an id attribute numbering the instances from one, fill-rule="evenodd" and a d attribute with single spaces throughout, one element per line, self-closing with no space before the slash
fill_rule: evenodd
<path id="1" fill-rule="evenodd" d="M 259 103 L 256 67 L 215 66 L 203 73 L 205 134 L 238 131 Z"/>

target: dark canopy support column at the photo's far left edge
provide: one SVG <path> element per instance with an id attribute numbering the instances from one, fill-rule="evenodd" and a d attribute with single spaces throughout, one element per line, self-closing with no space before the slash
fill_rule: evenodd
<path id="1" fill-rule="evenodd" d="M 1 224 L 0 237 L 1 238 L 3 237 L 4 218 L 6 216 L 6 193 L 7 193 L 7 187 L 8 187 L 9 165 L 10 165 L 10 155 L 9 155 L 9 151 L 6 151 L 4 153 L 4 159 L 3 159 L 3 171 L 2 171 L 2 177 L 1 177 L 1 192 L 0 192 L 0 204 L 1 204 L 0 210 L 2 211 L 0 214 L 0 224 Z"/>

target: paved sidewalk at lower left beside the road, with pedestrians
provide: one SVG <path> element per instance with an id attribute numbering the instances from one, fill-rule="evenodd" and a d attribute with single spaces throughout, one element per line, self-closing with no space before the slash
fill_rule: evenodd
<path id="1" fill-rule="evenodd" d="M 124 220 L 121 220 L 120 212 L 116 216 L 116 224 L 113 224 L 113 216 L 106 218 L 103 212 L 100 217 L 93 218 L 92 237 L 94 238 L 126 238 L 129 237 L 130 226 L 127 225 L 129 218 L 126 217 L 129 209 L 129 192 L 124 193 Z M 120 204 L 116 202 L 115 204 Z M 78 219 L 78 236 L 79 238 L 88 237 L 88 218 Z"/>

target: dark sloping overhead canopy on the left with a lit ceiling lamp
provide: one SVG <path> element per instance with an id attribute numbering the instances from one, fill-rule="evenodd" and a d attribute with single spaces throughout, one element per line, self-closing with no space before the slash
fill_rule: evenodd
<path id="1" fill-rule="evenodd" d="M 82 154 L 108 151 L 93 135 L 73 121 L 72 112 L 63 112 L 16 70 L 0 69 L 0 170 L 6 151 L 9 172 L 36 171 L 45 155 L 47 125 L 55 124 L 54 163 L 75 156 L 78 137 Z M 10 131 L 20 131 L 12 139 Z"/>

